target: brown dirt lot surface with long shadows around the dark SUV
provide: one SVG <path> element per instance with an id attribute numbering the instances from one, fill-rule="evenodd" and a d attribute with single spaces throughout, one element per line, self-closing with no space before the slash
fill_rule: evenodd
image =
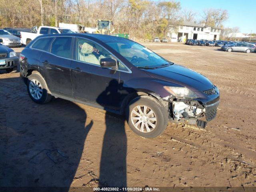
<path id="1" fill-rule="evenodd" d="M 0 72 L 0 186 L 256 186 L 256 53 L 144 45 L 218 86 L 205 129 L 170 123 L 141 138 L 104 110 L 36 104 L 19 73 Z"/>

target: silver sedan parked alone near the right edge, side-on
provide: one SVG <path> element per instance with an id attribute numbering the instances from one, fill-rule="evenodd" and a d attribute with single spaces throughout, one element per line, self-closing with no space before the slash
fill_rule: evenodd
<path id="1" fill-rule="evenodd" d="M 234 43 L 230 45 L 224 45 L 221 47 L 221 49 L 228 52 L 236 51 L 250 53 L 255 51 L 255 46 L 247 43 Z"/>

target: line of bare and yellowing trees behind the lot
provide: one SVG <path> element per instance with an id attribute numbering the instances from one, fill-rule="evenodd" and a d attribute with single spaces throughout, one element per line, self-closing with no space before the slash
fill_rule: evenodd
<path id="1" fill-rule="evenodd" d="M 56 26 L 59 22 L 96 27 L 112 20 L 115 33 L 151 39 L 166 36 L 183 21 L 223 28 L 227 10 L 201 13 L 182 9 L 173 0 L 0 0 L 0 27 Z"/>

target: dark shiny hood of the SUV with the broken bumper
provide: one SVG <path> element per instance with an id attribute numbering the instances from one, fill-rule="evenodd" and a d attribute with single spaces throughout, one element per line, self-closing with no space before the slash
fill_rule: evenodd
<path id="1" fill-rule="evenodd" d="M 187 87 L 192 91 L 209 90 L 213 86 L 202 74 L 177 64 L 145 71 L 151 77 Z"/>

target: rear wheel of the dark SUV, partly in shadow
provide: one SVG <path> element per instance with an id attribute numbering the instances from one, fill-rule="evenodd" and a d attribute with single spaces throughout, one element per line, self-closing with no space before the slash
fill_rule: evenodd
<path id="1" fill-rule="evenodd" d="M 50 90 L 40 73 L 28 76 L 27 90 L 30 98 L 38 104 L 48 103 L 52 99 Z"/>

